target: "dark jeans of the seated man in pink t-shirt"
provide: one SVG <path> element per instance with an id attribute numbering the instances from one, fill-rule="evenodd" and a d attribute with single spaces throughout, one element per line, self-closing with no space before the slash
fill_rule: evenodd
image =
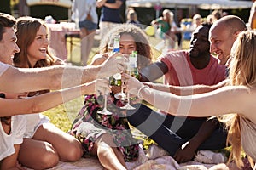
<path id="1" fill-rule="evenodd" d="M 165 115 L 151 110 L 146 105 L 133 105 L 136 110 L 127 111 L 130 124 L 153 139 L 170 156 L 189 141 L 199 130 L 207 117 L 186 117 Z M 212 136 L 203 142 L 198 150 L 219 150 L 226 146 L 227 131 L 219 122 Z"/>

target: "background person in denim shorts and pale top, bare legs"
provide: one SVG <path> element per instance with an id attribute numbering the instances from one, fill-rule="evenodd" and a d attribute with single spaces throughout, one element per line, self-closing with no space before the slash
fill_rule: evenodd
<path id="1" fill-rule="evenodd" d="M 81 64 L 87 65 L 98 24 L 95 0 L 73 0 L 73 20 L 79 25 L 81 38 Z"/>

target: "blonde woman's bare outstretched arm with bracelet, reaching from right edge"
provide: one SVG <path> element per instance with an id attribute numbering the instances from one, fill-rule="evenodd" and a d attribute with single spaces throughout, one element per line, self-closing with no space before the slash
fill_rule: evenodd
<path id="1" fill-rule="evenodd" d="M 175 116 L 216 116 L 241 113 L 255 120 L 253 100 L 256 92 L 244 86 L 226 86 L 205 94 L 177 96 L 145 87 L 143 82 L 125 74 L 126 88 L 131 94 L 145 99 L 156 108 Z"/>

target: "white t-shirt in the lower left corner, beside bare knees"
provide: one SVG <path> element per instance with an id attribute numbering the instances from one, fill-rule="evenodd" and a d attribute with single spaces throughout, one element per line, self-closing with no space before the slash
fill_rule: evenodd
<path id="1" fill-rule="evenodd" d="M 0 161 L 15 153 L 14 145 L 23 142 L 23 134 L 25 133 L 25 130 L 26 118 L 21 115 L 11 117 L 10 134 L 4 132 L 2 122 L 0 122 Z"/>

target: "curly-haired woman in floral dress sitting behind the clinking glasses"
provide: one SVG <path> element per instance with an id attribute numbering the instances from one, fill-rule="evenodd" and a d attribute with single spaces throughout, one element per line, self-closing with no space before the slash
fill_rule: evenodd
<path id="1" fill-rule="evenodd" d="M 151 63 L 151 48 L 148 39 L 139 27 L 123 24 L 114 27 L 103 37 L 100 44 L 100 54 L 96 54 L 90 65 L 100 65 L 108 59 L 108 41 L 114 35 L 120 36 L 119 53 L 128 55 L 137 51 L 137 67 Z M 115 66 L 115 65 L 113 65 Z M 102 96 L 86 95 L 84 107 L 73 122 L 71 133 L 82 143 L 84 156 L 98 156 L 102 166 L 107 169 L 126 169 L 125 161 L 135 161 L 138 157 L 139 146 L 132 138 L 126 111 L 120 107 L 125 102 L 114 98 L 120 87 L 113 86 L 108 95 L 108 111 L 113 115 L 102 115 Z"/>

